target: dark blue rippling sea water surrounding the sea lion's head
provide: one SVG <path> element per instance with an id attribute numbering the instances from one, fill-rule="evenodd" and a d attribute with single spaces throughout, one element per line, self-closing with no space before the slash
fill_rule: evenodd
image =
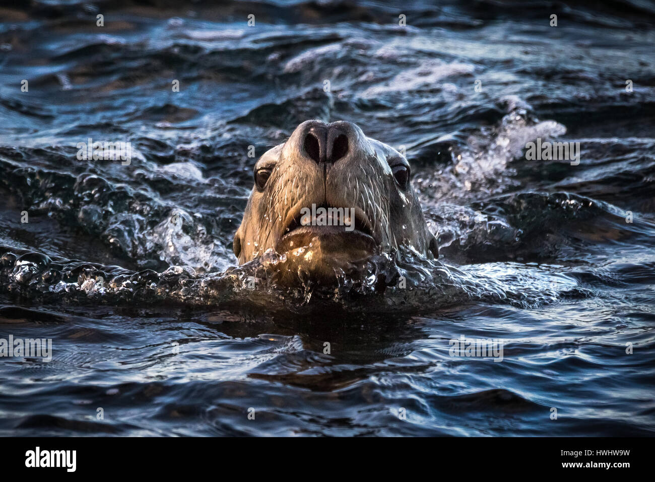
<path id="1" fill-rule="evenodd" d="M 181 4 L 0 10 L 0 338 L 53 350 L 0 359 L 1 434 L 655 434 L 652 3 Z M 231 270 L 248 146 L 311 118 L 405 146 L 439 261 Z"/>

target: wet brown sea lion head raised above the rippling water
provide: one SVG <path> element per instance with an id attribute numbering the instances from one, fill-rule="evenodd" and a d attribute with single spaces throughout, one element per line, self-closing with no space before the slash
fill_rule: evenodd
<path id="1" fill-rule="evenodd" d="M 239 264 L 272 250 L 283 269 L 326 282 L 402 245 L 438 257 L 407 159 L 354 123 L 301 123 L 261 156 L 253 176 L 234 235 Z"/>

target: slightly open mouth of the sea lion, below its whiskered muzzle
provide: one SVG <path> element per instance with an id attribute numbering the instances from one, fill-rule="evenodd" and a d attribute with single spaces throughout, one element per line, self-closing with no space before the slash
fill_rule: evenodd
<path id="1" fill-rule="evenodd" d="M 287 217 L 278 251 L 307 247 L 315 242 L 322 249 L 372 251 L 379 244 L 373 225 L 358 207 L 343 208 L 331 205 L 298 207 Z"/>

